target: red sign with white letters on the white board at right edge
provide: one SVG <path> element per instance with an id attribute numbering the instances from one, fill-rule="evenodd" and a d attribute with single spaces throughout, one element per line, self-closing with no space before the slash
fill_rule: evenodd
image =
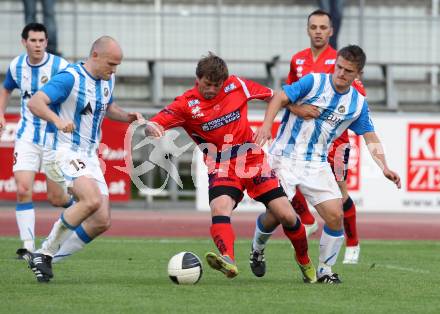
<path id="1" fill-rule="evenodd" d="M 408 124 L 408 192 L 440 192 L 440 124 Z"/>

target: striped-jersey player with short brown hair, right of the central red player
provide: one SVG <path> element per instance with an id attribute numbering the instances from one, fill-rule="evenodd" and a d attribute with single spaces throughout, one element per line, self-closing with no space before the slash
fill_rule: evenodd
<path id="1" fill-rule="evenodd" d="M 281 125 L 269 152 L 271 166 L 290 199 L 299 187 L 324 219 L 319 245 L 318 282 L 340 283 L 332 272 L 343 243 L 341 193 L 327 162 L 333 140 L 347 128 L 363 135 L 373 159 L 386 178 L 400 188 L 400 177 L 387 166 L 379 138 L 369 116 L 366 99 L 351 84 L 362 73 L 365 54 L 358 46 L 338 52 L 334 74 L 309 74 L 292 85 L 284 86 L 268 105 L 262 127 L 255 140 L 263 145 L 271 138 L 273 120 L 278 111 L 292 104 L 311 104 L 320 114 L 304 120 L 285 109 Z M 279 223 L 270 214 L 257 220 L 254 248 L 263 252 L 271 232 Z M 256 252 L 257 254 L 259 252 Z"/>

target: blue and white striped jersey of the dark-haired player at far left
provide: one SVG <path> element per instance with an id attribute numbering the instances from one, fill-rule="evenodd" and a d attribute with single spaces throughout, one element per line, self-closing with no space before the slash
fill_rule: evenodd
<path id="1" fill-rule="evenodd" d="M 46 121 L 33 115 L 27 104 L 33 94 L 68 64 L 63 58 L 50 53 L 45 53 L 42 62 L 37 65 L 29 64 L 27 54 L 12 60 L 3 87 L 9 91 L 15 88 L 20 90 L 21 118 L 18 122 L 16 138 L 39 145 L 43 144 Z"/>

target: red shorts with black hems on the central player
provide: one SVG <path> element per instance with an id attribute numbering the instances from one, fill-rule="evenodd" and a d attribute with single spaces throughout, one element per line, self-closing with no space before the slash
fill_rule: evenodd
<path id="1" fill-rule="evenodd" d="M 226 161 L 215 162 L 208 171 L 209 202 L 221 195 L 231 196 L 236 205 L 243 198 L 243 191 L 264 204 L 286 196 L 275 171 L 267 163 L 266 155 L 248 152 Z"/>

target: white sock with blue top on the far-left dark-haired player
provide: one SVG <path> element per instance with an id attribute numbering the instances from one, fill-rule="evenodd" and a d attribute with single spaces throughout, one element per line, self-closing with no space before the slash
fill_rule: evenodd
<path id="1" fill-rule="evenodd" d="M 17 203 L 15 206 L 15 217 L 17 219 L 20 239 L 23 241 L 23 247 L 28 251 L 35 251 L 35 210 L 34 204 Z"/>

